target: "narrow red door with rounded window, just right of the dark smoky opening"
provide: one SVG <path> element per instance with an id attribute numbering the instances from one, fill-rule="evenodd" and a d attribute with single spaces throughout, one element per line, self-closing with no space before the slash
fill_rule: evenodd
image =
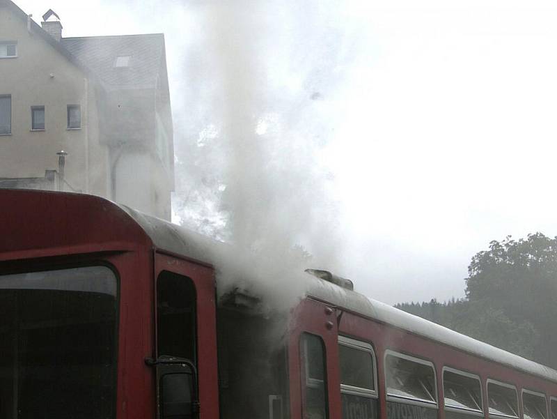
<path id="1" fill-rule="evenodd" d="M 336 309 L 307 299 L 290 327 L 292 419 L 340 419 Z"/>

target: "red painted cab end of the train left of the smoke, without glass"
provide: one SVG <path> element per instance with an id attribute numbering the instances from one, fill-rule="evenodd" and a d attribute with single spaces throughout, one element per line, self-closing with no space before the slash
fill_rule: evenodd
<path id="1" fill-rule="evenodd" d="M 110 264 L 118 272 L 117 419 L 155 418 L 155 271 L 194 280 L 198 293 L 199 391 L 203 419 L 217 419 L 212 268 L 156 254 L 146 233 L 115 204 L 91 195 L 0 190 L 0 272 Z M 156 265 L 156 266 L 155 266 Z"/>

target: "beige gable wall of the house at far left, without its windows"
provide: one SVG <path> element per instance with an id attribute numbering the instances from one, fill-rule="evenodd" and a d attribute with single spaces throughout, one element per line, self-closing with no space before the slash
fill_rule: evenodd
<path id="1" fill-rule="evenodd" d="M 0 7 L 0 39 L 17 41 L 17 58 L 0 61 L 0 94 L 12 96 L 12 133 L 0 142 L 0 177 L 44 176 L 58 169 L 56 153 L 68 153 L 65 176 L 74 190 L 87 190 L 87 142 L 91 132 L 67 129 L 68 105 L 90 108 L 87 75 L 26 23 Z M 45 130 L 31 131 L 31 106 L 45 106 Z M 95 124 L 95 115 L 84 118 Z M 93 133 L 94 135 L 94 133 Z M 96 143 L 96 144 L 95 144 Z M 91 148 L 98 142 L 89 143 Z M 101 146 L 102 148 L 102 146 Z M 102 191 L 99 191 L 102 192 Z"/>

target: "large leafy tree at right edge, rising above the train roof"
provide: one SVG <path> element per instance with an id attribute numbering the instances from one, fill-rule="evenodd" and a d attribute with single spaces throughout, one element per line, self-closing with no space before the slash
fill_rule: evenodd
<path id="1" fill-rule="evenodd" d="M 557 365 L 557 238 L 535 233 L 492 241 L 489 250 L 472 258 L 468 271 L 466 297 L 478 312 L 499 316 L 516 342 L 528 336 L 522 345 L 533 346 L 535 360 Z M 515 346 L 505 344 L 505 349 Z"/>

